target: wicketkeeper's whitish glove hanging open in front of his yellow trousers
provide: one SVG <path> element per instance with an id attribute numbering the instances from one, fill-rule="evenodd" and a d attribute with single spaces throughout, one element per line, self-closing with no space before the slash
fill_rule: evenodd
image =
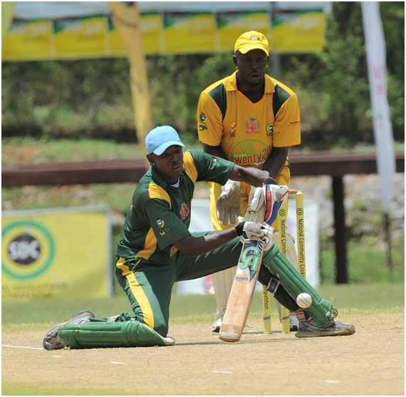
<path id="1" fill-rule="evenodd" d="M 220 225 L 234 225 L 240 215 L 241 192 L 239 190 L 240 182 L 227 180 L 222 186 L 222 194 L 217 200 L 217 219 Z"/>

